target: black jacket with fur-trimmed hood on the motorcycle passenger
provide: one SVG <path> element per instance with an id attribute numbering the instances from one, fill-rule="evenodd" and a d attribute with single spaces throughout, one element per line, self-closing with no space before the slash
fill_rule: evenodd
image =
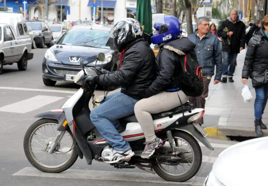
<path id="1" fill-rule="evenodd" d="M 158 94 L 160 91 L 176 89 L 174 79 L 181 71 L 181 62 L 178 55 L 185 55 L 193 51 L 195 44 L 188 38 L 180 38 L 168 43 L 161 43 L 161 48 L 156 56 L 157 78 L 152 85 L 145 90 L 144 97 Z"/>

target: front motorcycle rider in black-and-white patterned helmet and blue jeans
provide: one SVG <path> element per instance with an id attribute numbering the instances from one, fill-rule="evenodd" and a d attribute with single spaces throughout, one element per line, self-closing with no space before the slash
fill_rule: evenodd
<path id="1" fill-rule="evenodd" d="M 102 70 L 102 75 L 89 76 L 83 87 L 89 83 L 102 86 L 120 86 L 121 91 L 106 97 L 105 102 L 90 113 L 92 123 L 99 133 L 114 148 L 107 163 L 121 162 L 134 155 L 129 143 L 118 133 L 119 118 L 134 114 L 134 105 L 141 99 L 139 92 L 147 89 L 156 77 L 155 55 L 143 39 L 141 24 L 133 18 L 119 21 L 110 31 L 114 46 L 120 53 L 121 67 L 116 72 Z"/>

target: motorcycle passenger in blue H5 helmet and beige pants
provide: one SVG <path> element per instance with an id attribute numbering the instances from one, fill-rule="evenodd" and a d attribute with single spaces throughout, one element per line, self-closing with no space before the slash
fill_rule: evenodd
<path id="1" fill-rule="evenodd" d="M 174 16 L 158 18 L 154 24 L 155 34 L 151 37 L 153 44 L 160 50 L 156 56 L 157 78 L 140 92 L 142 99 L 135 104 L 135 116 L 145 135 L 145 148 L 142 158 L 149 158 L 163 141 L 156 137 L 151 114 L 167 111 L 186 103 L 188 96 L 177 86 L 177 75 L 182 70 L 179 55 L 191 51 L 195 44 L 188 38 L 181 38 L 182 25 Z M 179 99 L 180 97 L 180 99 Z M 181 100 L 181 102 L 180 102 Z"/>

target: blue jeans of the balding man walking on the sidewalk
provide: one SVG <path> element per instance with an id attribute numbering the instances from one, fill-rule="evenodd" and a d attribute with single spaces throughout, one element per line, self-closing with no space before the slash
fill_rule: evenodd
<path id="1" fill-rule="evenodd" d="M 236 69 L 236 57 L 237 57 L 237 54 L 223 52 L 223 63 L 222 63 L 222 77 L 223 78 L 227 78 L 227 75 L 230 78 L 233 77 L 233 73 Z"/>

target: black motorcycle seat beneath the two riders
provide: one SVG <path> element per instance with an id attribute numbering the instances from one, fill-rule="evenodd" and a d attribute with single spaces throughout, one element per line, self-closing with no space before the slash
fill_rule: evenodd
<path id="1" fill-rule="evenodd" d="M 182 113 L 182 111 L 191 111 L 192 109 L 194 109 L 195 106 L 191 103 L 191 102 L 186 102 L 185 104 L 183 104 L 183 109 L 182 106 L 178 106 L 176 108 L 172 108 L 171 110 L 168 111 L 163 111 L 157 114 L 151 114 L 152 115 L 152 119 L 156 120 L 156 119 L 160 119 L 162 117 L 172 117 L 174 114 L 179 114 Z M 119 119 L 120 123 L 130 123 L 130 122 L 138 122 L 135 114 L 132 114 L 130 116 L 126 116 L 126 117 L 122 117 Z"/>

